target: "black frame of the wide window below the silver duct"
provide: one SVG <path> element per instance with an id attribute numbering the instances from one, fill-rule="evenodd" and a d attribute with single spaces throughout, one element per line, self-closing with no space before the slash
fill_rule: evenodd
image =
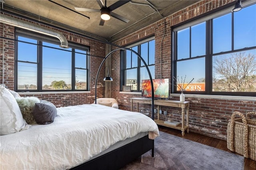
<path id="1" fill-rule="evenodd" d="M 22 43 L 29 43 L 29 42 L 24 42 L 18 40 L 18 36 L 24 37 L 24 38 L 29 38 L 37 41 L 37 44 L 35 43 L 30 43 L 32 45 L 37 46 L 37 61 L 36 62 L 29 62 L 29 61 L 19 61 L 18 60 L 18 42 Z M 63 51 L 68 51 L 71 53 L 71 89 L 60 89 L 60 90 L 45 90 L 42 89 L 42 48 L 43 47 L 50 47 L 47 45 L 42 45 L 43 42 L 46 43 L 52 43 L 53 45 L 60 45 L 60 40 L 54 37 L 42 35 L 39 33 L 35 32 L 30 32 L 28 30 L 23 30 L 20 28 L 15 29 L 15 75 L 14 75 L 14 89 L 17 92 L 61 92 L 61 91 L 90 91 L 90 47 L 82 45 L 82 44 L 77 44 L 73 42 L 68 42 L 69 49 L 57 49 L 57 50 L 63 50 Z M 50 47 L 52 49 L 55 49 L 55 47 Z M 75 49 L 79 49 L 82 51 L 85 51 L 86 53 L 80 53 L 80 52 L 75 52 Z M 85 54 L 86 55 L 86 89 L 76 89 L 76 72 L 75 72 L 75 54 L 80 53 L 80 54 Z M 22 63 L 34 63 L 37 65 L 37 89 L 18 89 L 18 62 Z M 80 68 L 79 68 L 80 69 Z"/>

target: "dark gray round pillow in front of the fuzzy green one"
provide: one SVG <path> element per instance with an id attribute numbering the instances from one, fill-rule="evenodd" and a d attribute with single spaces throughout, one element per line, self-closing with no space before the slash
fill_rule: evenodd
<path id="1" fill-rule="evenodd" d="M 51 102 L 41 100 L 40 103 L 35 104 L 32 114 L 37 124 L 47 125 L 53 123 L 57 109 Z"/>

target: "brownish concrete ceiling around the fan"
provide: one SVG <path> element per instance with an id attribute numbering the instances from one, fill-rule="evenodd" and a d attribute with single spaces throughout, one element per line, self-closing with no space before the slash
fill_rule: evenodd
<path id="1" fill-rule="evenodd" d="M 128 23 L 111 17 L 105 21 L 104 26 L 99 25 L 100 12 L 82 12 L 74 8 L 100 10 L 95 0 L 4 0 L 3 5 L 1 3 L 1 11 L 25 16 L 101 41 L 114 42 L 198 1 L 132 0 L 112 11 L 130 20 Z M 105 4 L 105 0 L 102 2 Z M 106 4 L 110 6 L 115 2 L 117 0 L 107 0 Z"/>

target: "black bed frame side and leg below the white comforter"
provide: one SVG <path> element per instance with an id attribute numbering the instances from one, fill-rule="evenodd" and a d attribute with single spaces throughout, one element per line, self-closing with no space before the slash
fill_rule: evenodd
<path id="1" fill-rule="evenodd" d="M 152 157 L 154 157 L 154 140 L 149 139 L 147 135 L 76 166 L 72 170 L 118 170 L 149 150 L 152 150 Z"/>

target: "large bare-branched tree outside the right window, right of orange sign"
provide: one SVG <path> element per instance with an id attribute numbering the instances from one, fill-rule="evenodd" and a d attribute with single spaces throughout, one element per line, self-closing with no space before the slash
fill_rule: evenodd
<path id="1" fill-rule="evenodd" d="M 245 52 L 233 53 L 226 56 L 219 56 L 213 61 L 214 73 L 224 79 L 228 90 L 254 91 L 256 81 L 256 56 Z M 218 82 L 214 77 L 215 83 Z M 219 80 L 220 80 L 219 79 Z M 223 83 L 223 81 L 222 81 Z"/>

